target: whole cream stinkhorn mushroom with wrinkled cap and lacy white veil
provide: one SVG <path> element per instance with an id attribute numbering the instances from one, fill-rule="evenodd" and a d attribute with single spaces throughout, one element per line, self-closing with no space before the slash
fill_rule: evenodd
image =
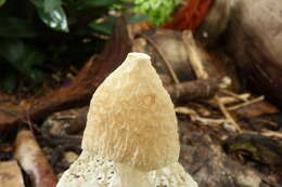
<path id="1" fill-rule="evenodd" d="M 57 187 L 196 187 L 178 162 L 174 104 L 150 56 L 129 53 L 91 99 L 82 152 Z"/>

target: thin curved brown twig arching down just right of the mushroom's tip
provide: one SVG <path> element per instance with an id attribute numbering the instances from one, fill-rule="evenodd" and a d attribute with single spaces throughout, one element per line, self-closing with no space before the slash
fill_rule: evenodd
<path id="1" fill-rule="evenodd" d="M 159 54 L 159 56 L 163 58 L 163 61 L 165 62 L 166 66 L 167 66 L 167 69 L 172 78 L 172 80 L 175 81 L 176 84 L 179 84 L 180 81 L 176 75 L 176 71 L 175 69 L 172 68 L 170 62 L 166 58 L 165 54 L 163 53 L 163 51 L 157 46 L 157 44 L 150 38 L 148 37 L 146 35 L 143 35 L 143 34 L 140 34 L 144 39 L 146 39 L 151 44 L 152 46 L 155 48 L 155 50 L 157 51 L 157 53 Z"/>

